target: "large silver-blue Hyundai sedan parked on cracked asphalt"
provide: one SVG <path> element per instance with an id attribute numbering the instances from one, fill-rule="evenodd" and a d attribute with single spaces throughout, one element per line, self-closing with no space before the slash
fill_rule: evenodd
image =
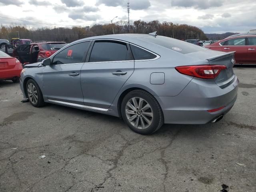
<path id="1" fill-rule="evenodd" d="M 156 34 L 116 34 L 72 42 L 26 65 L 24 98 L 122 117 L 140 134 L 166 124 L 217 122 L 234 105 L 234 52 Z"/>

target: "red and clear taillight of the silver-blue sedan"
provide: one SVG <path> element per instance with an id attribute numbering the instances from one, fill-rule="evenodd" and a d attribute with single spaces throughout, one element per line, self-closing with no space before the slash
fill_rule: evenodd
<path id="1" fill-rule="evenodd" d="M 218 76 L 221 70 L 226 69 L 224 65 L 190 65 L 179 66 L 175 69 L 184 75 L 202 79 L 214 79 Z"/>

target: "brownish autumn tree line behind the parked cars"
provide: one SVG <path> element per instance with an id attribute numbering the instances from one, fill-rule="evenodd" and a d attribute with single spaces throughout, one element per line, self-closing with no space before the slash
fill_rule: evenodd
<path id="1" fill-rule="evenodd" d="M 54 27 L 54 28 L 33 28 L 28 26 L 10 25 L 0 26 L 0 39 L 18 38 L 31 39 L 34 41 L 64 41 L 67 43 L 73 42 L 78 39 L 113 34 L 112 27 L 115 34 L 122 33 L 142 33 L 148 34 L 157 31 L 158 35 L 168 36 L 179 40 L 186 39 L 200 39 L 207 40 L 204 32 L 195 27 L 187 24 L 174 24 L 172 22 L 162 22 L 158 20 L 145 22 L 142 20 L 136 20 L 130 27 L 127 22 L 118 21 L 112 24 L 95 24 L 93 26 L 73 26 L 70 27 Z"/>

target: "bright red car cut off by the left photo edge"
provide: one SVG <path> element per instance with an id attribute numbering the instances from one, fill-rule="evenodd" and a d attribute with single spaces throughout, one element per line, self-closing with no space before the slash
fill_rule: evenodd
<path id="1" fill-rule="evenodd" d="M 19 82 L 22 66 L 20 61 L 0 51 L 0 80 Z"/>

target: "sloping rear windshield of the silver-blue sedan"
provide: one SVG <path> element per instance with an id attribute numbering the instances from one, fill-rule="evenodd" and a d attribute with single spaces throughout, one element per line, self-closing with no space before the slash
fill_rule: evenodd
<path id="1" fill-rule="evenodd" d="M 188 54 L 192 52 L 198 52 L 207 50 L 206 48 L 202 48 L 201 46 L 194 45 L 188 42 L 176 40 L 170 37 L 165 36 L 144 36 L 141 38 L 142 40 L 146 40 L 148 42 L 152 42 L 154 44 L 163 46 L 165 48 L 174 50 L 176 52 L 182 53 L 182 54 Z"/>

